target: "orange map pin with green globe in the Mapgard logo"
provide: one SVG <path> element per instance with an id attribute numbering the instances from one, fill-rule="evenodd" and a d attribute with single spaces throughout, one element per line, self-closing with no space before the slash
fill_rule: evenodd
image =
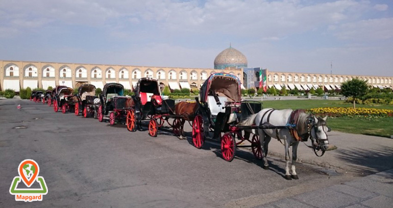
<path id="1" fill-rule="evenodd" d="M 19 176 L 27 187 L 31 187 L 39 171 L 38 164 L 34 160 L 24 160 L 18 167 Z"/>

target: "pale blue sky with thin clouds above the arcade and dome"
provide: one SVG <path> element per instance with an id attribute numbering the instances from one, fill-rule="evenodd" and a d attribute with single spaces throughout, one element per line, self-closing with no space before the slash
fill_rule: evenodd
<path id="1" fill-rule="evenodd" d="M 0 0 L 0 60 L 393 76 L 393 1 Z"/>

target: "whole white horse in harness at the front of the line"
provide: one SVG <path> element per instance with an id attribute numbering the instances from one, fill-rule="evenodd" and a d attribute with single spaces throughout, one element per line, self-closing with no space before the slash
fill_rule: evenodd
<path id="1" fill-rule="evenodd" d="M 299 179 L 298 174 L 295 170 L 295 162 L 297 159 L 297 149 L 299 145 L 299 140 L 306 141 L 308 137 L 311 138 L 312 146 L 310 146 L 315 154 L 317 150 L 322 150 L 324 153 L 327 150 L 332 150 L 337 147 L 329 145 L 328 141 L 328 127 L 326 126 L 326 119 L 315 117 L 312 114 L 307 114 L 304 112 L 298 112 L 296 116 L 294 116 L 294 123 L 291 123 L 293 119 L 291 119 L 292 114 L 291 109 L 285 110 L 275 110 L 275 109 L 263 109 L 259 113 L 251 115 L 249 118 L 241 122 L 239 125 L 251 126 L 256 124 L 257 126 L 263 125 L 262 129 L 258 130 L 248 130 L 250 133 L 256 134 L 255 131 L 258 131 L 262 154 L 263 154 L 263 163 L 264 169 L 268 169 L 268 163 L 266 159 L 267 148 L 270 140 L 273 138 L 278 139 L 280 142 L 284 140 L 284 148 L 285 148 L 285 178 L 290 180 L 291 177 L 293 179 Z M 273 126 L 272 126 L 273 125 Z M 292 136 L 289 128 L 275 128 L 274 126 L 290 126 L 293 128 L 292 134 L 298 134 L 296 136 Z M 296 130 L 296 131 L 295 131 Z M 294 137 L 297 137 L 298 140 Z M 291 164 L 291 172 L 289 173 L 289 147 L 292 146 L 292 164 Z M 322 153 L 322 154 L 323 154 Z M 319 156 L 319 155 L 317 155 Z M 322 156 L 322 155 L 321 155 Z"/>

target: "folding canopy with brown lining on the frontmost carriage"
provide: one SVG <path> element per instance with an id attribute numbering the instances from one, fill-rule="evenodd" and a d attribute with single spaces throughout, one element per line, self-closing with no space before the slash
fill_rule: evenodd
<path id="1" fill-rule="evenodd" d="M 233 102 L 241 100 L 240 80 L 232 74 L 212 73 L 201 87 L 201 102 L 206 102 L 210 90 Z"/>

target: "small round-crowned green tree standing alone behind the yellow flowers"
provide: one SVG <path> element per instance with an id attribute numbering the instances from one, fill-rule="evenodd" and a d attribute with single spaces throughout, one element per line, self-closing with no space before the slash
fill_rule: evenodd
<path id="1" fill-rule="evenodd" d="M 353 97 L 353 108 L 355 109 L 355 99 L 365 95 L 368 88 L 367 81 L 356 77 L 341 84 L 341 93 L 346 97 Z"/>

